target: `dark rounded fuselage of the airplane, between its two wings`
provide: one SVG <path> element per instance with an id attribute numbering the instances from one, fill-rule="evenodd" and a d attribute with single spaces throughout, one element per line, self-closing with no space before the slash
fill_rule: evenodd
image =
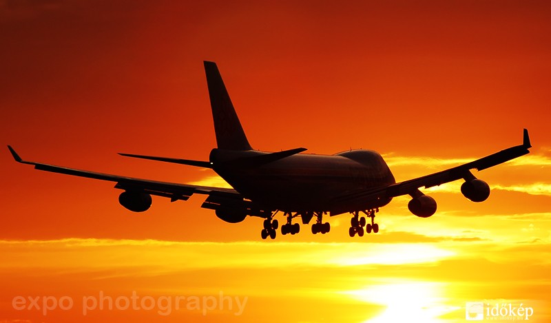
<path id="1" fill-rule="evenodd" d="M 384 159 L 371 150 L 335 155 L 297 154 L 258 167 L 216 167 L 220 162 L 269 154 L 213 149 L 214 170 L 234 189 L 262 207 L 287 212 L 342 209 L 335 198 L 346 193 L 395 183 Z M 365 201 L 351 209 L 382 207 L 391 198 Z"/>

